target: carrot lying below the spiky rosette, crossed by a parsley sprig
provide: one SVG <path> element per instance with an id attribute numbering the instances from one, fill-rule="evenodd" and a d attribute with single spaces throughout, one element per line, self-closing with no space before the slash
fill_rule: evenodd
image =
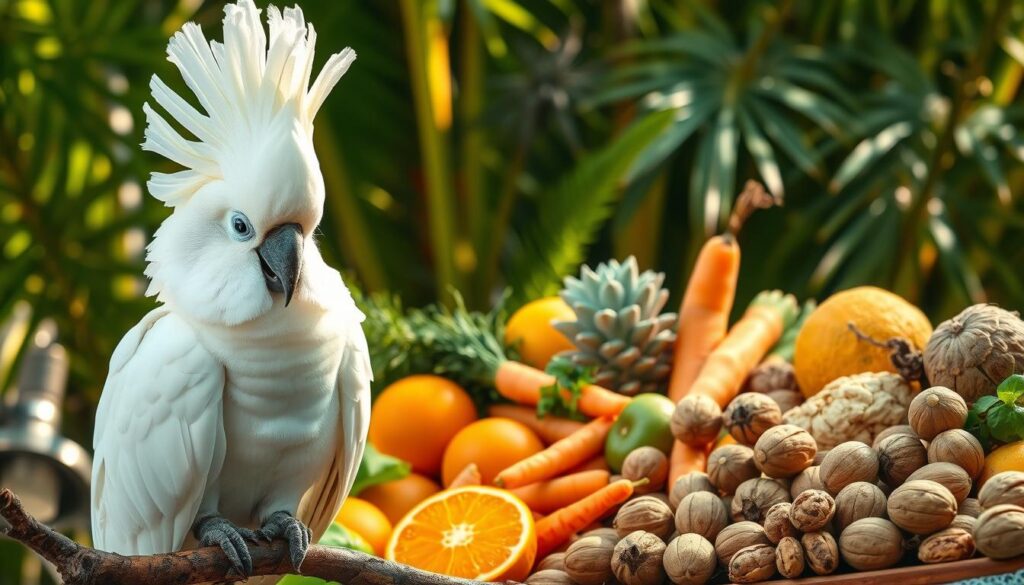
<path id="1" fill-rule="evenodd" d="M 518 362 L 504 361 L 495 373 L 495 387 L 506 399 L 525 406 L 537 406 L 541 388 L 555 383 L 555 377 Z M 565 391 L 568 399 L 568 392 Z M 630 404 L 630 398 L 607 388 L 589 384 L 581 388 L 580 412 L 591 417 L 614 416 Z"/>

